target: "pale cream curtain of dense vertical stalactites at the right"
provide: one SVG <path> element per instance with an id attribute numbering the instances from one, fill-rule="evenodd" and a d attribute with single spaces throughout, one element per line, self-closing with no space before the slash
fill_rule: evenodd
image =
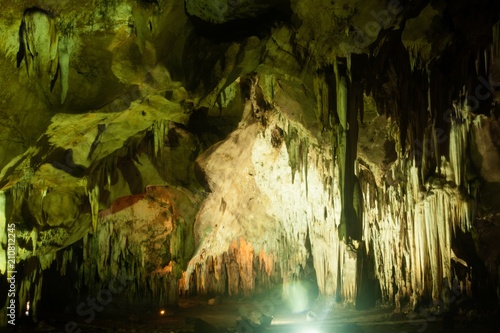
<path id="1" fill-rule="evenodd" d="M 413 161 L 407 167 L 401 164 L 406 179 L 384 189 L 384 200 L 377 207 L 365 200 L 365 228 L 369 228 L 364 233 L 365 241 L 374 244 L 374 252 L 379 254 L 375 262 L 382 268 L 377 271 L 382 294 L 386 301 L 394 296 L 396 308 L 405 299 L 415 306 L 426 290 L 438 302 L 443 288 L 451 287 L 454 279 L 450 266 L 451 241 L 457 229 L 470 231 L 474 216 L 473 198 L 464 194 L 462 187 L 467 173 L 469 123 L 468 118 L 452 123 L 449 140 L 452 158 L 447 162 L 441 157 L 441 172 L 424 179 L 425 189 L 420 185 L 420 168 Z M 423 162 L 427 155 L 436 158 L 432 146 L 424 142 Z M 426 147 L 431 147 L 431 151 L 425 150 L 429 149 Z M 376 193 L 376 189 L 364 190 L 365 199 L 371 193 Z M 412 274 L 403 275 L 400 267 Z"/>

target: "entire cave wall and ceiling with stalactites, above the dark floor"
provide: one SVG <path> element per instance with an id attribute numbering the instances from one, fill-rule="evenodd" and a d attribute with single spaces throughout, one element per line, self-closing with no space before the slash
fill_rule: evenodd
<path id="1" fill-rule="evenodd" d="M 294 300 L 299 283 L 360 308 L 498 305 L 499 11 L 8 1 L 0 227 L 18 313 L 116 277 L 134 304 Z"/>

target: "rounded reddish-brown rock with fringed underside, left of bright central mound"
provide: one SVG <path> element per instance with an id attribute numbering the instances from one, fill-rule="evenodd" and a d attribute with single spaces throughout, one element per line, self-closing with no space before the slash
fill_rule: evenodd
<path id="1" fill-rule="evenodd" d="M 115 200 L 82 241 L 82 285 L 99 290 L 119 277 L 127 281 L 124 296 L 130 302 L 175 304 L 178 279 L 193 247 L 188 220 L 193 213 L 186 209 L 195 204 L 188 191 L 156 186 Z M 63 265 L 67 260 L 63 255 Z"/>

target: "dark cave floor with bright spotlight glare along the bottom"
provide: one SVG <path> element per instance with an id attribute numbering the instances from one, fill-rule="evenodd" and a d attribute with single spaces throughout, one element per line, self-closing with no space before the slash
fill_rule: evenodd
<path id="1" fill-rule="evenodd" d="M 454 318 L 451 325 L 444 324 L 443 319 L 434 315 L 420 314 L 414 318 L 406 315 L 395 315 L 390 308 L 373 308 L 370 310 L 355 310 L 349 306 L 336 306 L 328 302 L 316 302 L 314 313 L 316 320 L 308 321 L 307 312 L 291 314 L 286 307 L 274 306 L 265 298 L 221 298 L 216 304 L 209 305 L 206 297 L 191 297 L 181 299 L 179 307 L 174 309 L 153 309 L 148 306 L 125 308 L 120 304 L 110 303 L 96 312 L 93 320 L 78 316 L 76 311 L 64 313 L 45 311 L 44 318 L 37 324 L 26 319 L 18 320 L 15 327 L 7 330 L 12 332 L 64 332 L 64 333 L 104 333 L 104 332 L 135 332 L 135 333 L 180 333 L 195 332 L 194 323 L 199 318 L 209 323 L 210 328 L 198 329 L 196 333 L 245 332 L 250 331 L 236 327 L 236 321 L 245 311 L 251 313 L 259 308 L 261 311 L 272 311 L 273 323 L 265 330 L 258 332 L 290 332 L 290 333 L 434 333 L 434 332 L 500 332 L 500 319 L 484 319 L 476 317 Z M 74 322 L 73 327 L 67 326 Z M 255 331 L 257 332 L 257 330 Z"/>

